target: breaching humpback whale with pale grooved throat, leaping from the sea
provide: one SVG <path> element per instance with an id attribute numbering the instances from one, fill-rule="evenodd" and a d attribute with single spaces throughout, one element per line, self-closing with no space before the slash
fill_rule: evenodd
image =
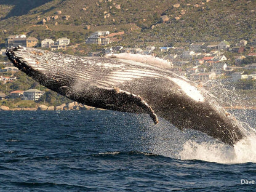
<path id="1" fill-rule="evenodd" d="M 213 95 L 168 70 L 168 63 L 119 57 L 76 57 L 30 47 L 6 50 L 19 70 L 43 86 L 85 105 L 149 114 L 179 129 L 194 129 L 234 145 L 241 124 Z"/>

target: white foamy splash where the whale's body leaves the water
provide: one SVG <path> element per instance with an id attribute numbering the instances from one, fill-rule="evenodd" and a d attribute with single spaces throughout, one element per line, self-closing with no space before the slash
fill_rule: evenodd
<path id="1" fill-rule="evenodd" d="M 225 144 L 196 143 L 188 141 L 183 145 L 180 159 L 199 159 L 224 164 L 256 162 L 256 136 L 240 140 L 234 147 Z"/>

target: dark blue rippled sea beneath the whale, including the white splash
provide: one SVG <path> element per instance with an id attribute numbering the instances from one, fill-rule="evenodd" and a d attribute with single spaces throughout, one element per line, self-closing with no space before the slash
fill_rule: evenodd
<path id="1" fill-rule="evenodd" d="M 256 111 L 232 113 L 255 129 Z M 0 119 L 0 191 L 256 191 L 254 135 L 231 147 L 114 111 L 0 111 Z"/>

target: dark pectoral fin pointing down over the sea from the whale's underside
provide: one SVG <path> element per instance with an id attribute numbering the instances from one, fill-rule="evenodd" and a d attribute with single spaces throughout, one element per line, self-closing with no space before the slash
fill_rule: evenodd
<path id="1" fill-rule="evenodd" d="M 150 114 L 154 124 L 158 123 L 158 116 L 154 113 L 151 106 L 148 105 L 142 97 L 140 97 L 140 95 L 132 94 L 125 90 L 121 90 L 118 87 L 94 87 L 92 92 L 94 93 L 91 97 L 92 105 L 96 105 L 107 110 L 129 113 L 147 113 Z"/>

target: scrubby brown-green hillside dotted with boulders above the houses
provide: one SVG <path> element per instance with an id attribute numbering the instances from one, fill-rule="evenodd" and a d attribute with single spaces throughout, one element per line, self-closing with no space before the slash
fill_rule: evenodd
<path id="1" fill-rule="evenodd" d="M 0 1 L 0 42 L 25 33 L 39 40 L 66 35 L 84 42 L 92 31 L 124 30 L 120 44 L 161 45 L 179 42 L 256 38 L 256 1 L 55 0 Z M 57 14 L 61 10 L 61 14 Z M 164 22 L 162 15 L 166 15 Z M 54 16 L 57 16 L 53 18 Z M 52 18 L 50 18 L 52 17 Z M 42 20 L 49 18 L 42 25 Z"/>

